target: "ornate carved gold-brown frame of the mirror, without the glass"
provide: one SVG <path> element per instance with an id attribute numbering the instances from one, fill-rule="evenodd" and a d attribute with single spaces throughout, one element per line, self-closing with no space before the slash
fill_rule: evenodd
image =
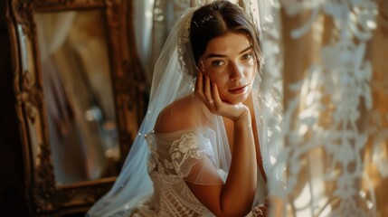
<path id="1" fill-rule="evenodd" d="M 66 185 L 55 183 L 33 14 L 90 9 L 103 12 L 122 165 L 144 116 L 146 94 L 134 45 L 132 5 L 127 0 L 7 1 L 15 106 L 24 146 L 25 194 L 31 204 L 30 212 L 33 216 L 85 212 L 109 190 L 116 177 Z"/>

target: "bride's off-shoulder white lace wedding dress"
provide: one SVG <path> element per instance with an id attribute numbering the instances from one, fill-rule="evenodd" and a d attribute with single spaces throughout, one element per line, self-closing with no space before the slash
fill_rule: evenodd
<path id="1" fill-rule="evenodd" d="M 211 162 L 215 161 L 212 139 L 203 137 L 202 130 L 147 134 L 147 144 L 151 151 L 148 174 L 155 190 L 137 206 L 132 216 L 214 216 L 185 184 L 185 178 L 194 164 L 203 161 L 204 157 Z M 227 174 L 217 169 L 225 180 Z M 261 177 L 257 192 L 255 201 L 262 203 L 266 188 Z"/>

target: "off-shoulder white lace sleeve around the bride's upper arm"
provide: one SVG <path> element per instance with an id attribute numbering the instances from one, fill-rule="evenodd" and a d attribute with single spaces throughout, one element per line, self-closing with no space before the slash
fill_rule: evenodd
<path id="1" fill-rule="evenodd" d="M 208 165 L 213 158 L 210 140 L 195 136 L 194 133 L 184 134 L 175 140 L 169 153 L 176 175 L 182 178 L 187 178 L 195 164 L 202 162 L 201 165 Z"/>

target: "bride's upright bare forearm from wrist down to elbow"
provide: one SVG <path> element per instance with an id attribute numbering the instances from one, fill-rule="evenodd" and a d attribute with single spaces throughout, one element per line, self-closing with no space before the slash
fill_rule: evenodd
<path id="1" fill-rule="evenodd" d="M 255 153 L 248 112 L 234 121 L 232 163 L 220 199 L 222 212 L 240 215 L 251 211 L 258 173 Z"/>

